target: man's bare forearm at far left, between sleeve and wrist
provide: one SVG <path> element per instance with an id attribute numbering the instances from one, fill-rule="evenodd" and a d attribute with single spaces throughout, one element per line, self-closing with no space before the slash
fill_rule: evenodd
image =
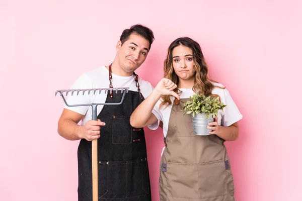
<path id="1" fill-rule="evenodd" d="M 58 134 L 67 140 L 80 140 L 81 126 L 71 119 L 60 119 L 58 122 Z"/>

